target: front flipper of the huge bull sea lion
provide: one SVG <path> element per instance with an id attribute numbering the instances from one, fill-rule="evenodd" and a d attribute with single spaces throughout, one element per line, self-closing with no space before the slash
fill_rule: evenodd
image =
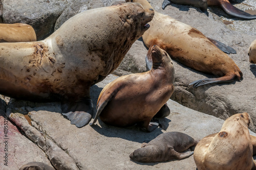
<path id="1" fill-rule="evenodd" d="M 93 115 L 93 102 L 91 98 L 84 98 L 75 102 L 61 102 L 62 115 L 67 116 L 71 124 L 77 128 L 87 125 Z"/>

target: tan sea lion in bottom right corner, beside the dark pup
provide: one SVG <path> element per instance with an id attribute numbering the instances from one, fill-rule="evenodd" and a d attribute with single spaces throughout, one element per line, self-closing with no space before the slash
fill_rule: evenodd
<path id="1" fill-rule="evenodd" d="M 235 114 L 226 119 L 219 133 L 204 137 L 194 151 L 198 170 L 256 169 L 249 124 L 248 113 Z"/>

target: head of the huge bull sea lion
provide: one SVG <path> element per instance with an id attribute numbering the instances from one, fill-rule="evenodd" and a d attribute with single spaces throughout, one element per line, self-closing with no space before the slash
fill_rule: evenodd
<path id="1" fill-rule="evenodd" d="M 130 27 L 131 30 L 137 30 L 135 36 L 137 39 L 150 28 L 147 24 L 151 22 L 155 14 L 152 8 L 143 8 L 138 3 L 119 4 L 120 19 L 124 23 L 124 27 Z"/>

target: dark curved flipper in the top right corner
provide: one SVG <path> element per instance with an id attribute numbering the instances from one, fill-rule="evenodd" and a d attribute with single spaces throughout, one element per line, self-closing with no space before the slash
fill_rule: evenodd
<path id="1" fill-rule="evenodd" d="M 220 4 L 222 9 L 229 15 L 238 17 L 241 19 L 256 19 L 256 15 L 251 15 L 247 12 L 244 12 L 236 7 L 234 7 L 232 4 L 229 3 L 229 1 L 222 1 Z"/>

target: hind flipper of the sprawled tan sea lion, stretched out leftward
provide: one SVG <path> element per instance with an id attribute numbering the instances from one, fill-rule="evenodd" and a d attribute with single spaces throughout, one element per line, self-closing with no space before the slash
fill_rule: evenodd
<path id="1" fill-rule="evenodd" d="M 193 81 L 193 82 L 189 83 L 188 85 L 193 85 L 193 88 L 196 88 L 196 87 L 203 86 L 203 85 L 209 84 L 209 83 L 231 82 L 231 81 L 233 81 L 235 76 L 236 75 L 234 75 L 234 74 L 229 74 L 229 75 L 225 75 L 225 76 L 219 77 L 219 78 L 204 78 L 201 80 Z"/>

